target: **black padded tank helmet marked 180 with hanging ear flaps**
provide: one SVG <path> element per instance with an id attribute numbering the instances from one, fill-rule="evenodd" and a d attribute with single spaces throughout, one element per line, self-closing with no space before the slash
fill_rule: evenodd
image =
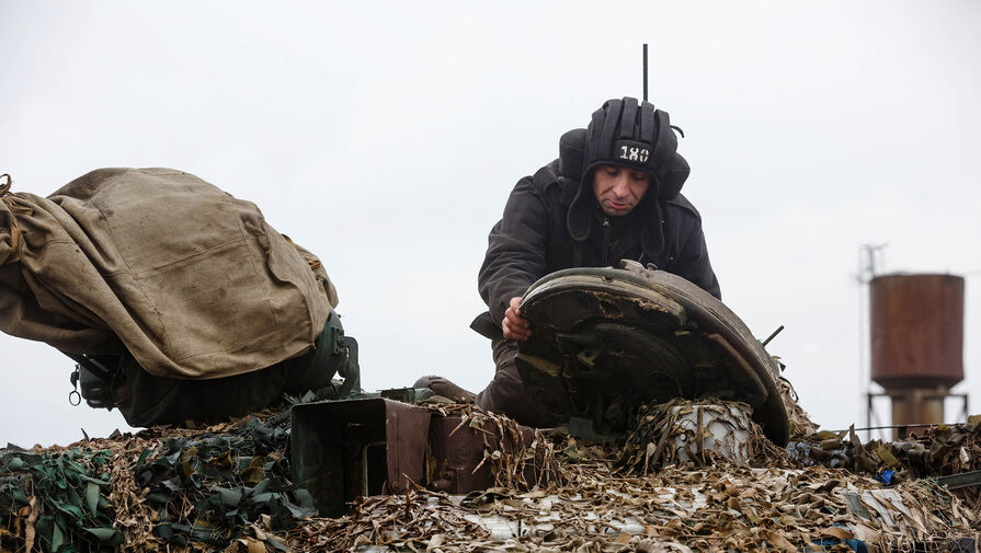
<path id="1" fill-rule="evenodd" d="M 650 102 L 634 97 L 609 100 L 593 113 L 585 129 L 573 129 L 559 141 L 559 170 L 579 181 L 579 191 L 569 206 L 569 234 L 584 241 L 590 234 L 594 211 L 593 172 L 598 165 L 615 165 L 651 175 L 651 187 L 636 208 L 647 211 L 642 244 L 650 255 L 664 247 L 661 231 L 661 201 L 674 199 L 691 169 L 677 153 L 677 136 L 668 113 Z M 655 245 L 657 244 L 657 245 Z"/>

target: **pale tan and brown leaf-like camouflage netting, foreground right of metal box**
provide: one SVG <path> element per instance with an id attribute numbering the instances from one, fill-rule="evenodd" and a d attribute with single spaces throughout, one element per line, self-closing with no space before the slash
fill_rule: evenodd
<path id="1" fill-rule="evenodd" d="M 801 551 L 849 540 L 942 551 L 977 537 L 973 512 L 928 485 L 880 485 L 844 470 L 668 468 L 621 476 L 567 465 L 562 486 L 459 497 L 425 489 L 372 497 L 290 532 L 298 551 Z M 851 499 L 849 499 L 851 497 Z M 858 498 L 868 519 L 852 512 Z"/>

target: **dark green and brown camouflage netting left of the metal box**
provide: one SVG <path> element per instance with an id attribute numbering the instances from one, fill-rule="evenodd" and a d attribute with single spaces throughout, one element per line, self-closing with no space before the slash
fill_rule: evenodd
<path id="1" fill-rule="evenodd" d="M 0 497 L 13 503 L 9 512 L 0 510 L 2 546 L 223 550 L 255 526 L 266 530 L 265 544 L 286 551 L 273 532 L 313 510 L 309 496 L 289 482 L 287 434 L 270 420 L 249 417 L 203 431 L 149 429 L 37 453 L 7 452 L 0 474 L 20 477 L 0 484 Z"/>

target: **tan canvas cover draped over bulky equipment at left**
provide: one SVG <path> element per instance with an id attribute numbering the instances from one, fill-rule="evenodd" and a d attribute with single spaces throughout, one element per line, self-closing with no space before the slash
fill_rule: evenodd
<path id="1" fill-rule="evenodd" d="M 43 198 L 0 181 L 0 330 L 69 353 L 128 349 L 212 379 L 308 352 L 338 296 L 259 208 L 172 169 L 100 169 Z"/>

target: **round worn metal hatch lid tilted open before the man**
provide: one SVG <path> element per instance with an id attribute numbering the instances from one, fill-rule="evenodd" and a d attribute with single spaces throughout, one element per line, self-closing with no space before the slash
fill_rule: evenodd
<path id="1" fill-rule="evenodd" d="M 586 417 L 616 431 L 640 403 L 717 398 L 749 404 L 786 445 L 775 364 L 745 324 L 676 275 L 621 267 L 559 270 L 522 298 L 534 332 L 518 343 L 518 371 L 556 423 Z"/>

